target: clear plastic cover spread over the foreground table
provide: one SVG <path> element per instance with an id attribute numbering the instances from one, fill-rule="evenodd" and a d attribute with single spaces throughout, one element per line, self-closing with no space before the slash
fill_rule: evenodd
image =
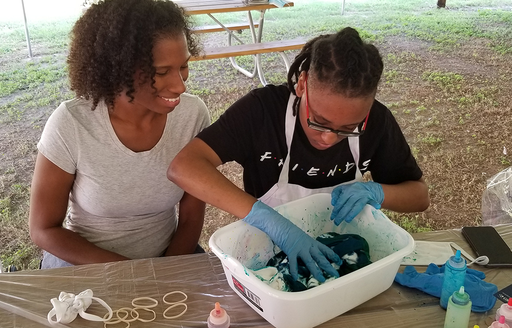
<path id="1" fill-rule="evenodd" d="M 496 229 L 508 245 L 512 245 L 512 224 L 502 224 Z M 461 237 L 460 230 L 413 234 L 413 237 L 416 240 L 454 241 L 475 255 Z M 423 272 L 425 268 L 417 269 Z M 472 268 L 485 272 L 485 280 L 495 283 L 498 290 L 512 283 L 512 269 L 487 269 L 477 265 Z M 52 309 L 51 298 L 58 297 L 60 292 L 78 294 L 87 289 L 91 289 L 95 297 L 103 299 L 114 311 L 122 307 L 133 308 L 131 301 L 136 297 L 157 299 L 158 306 L 153 308 L 156 319 L 131 322 L 132 328 L 206 327 L 206 319 L 215 302 L 220 302 L 226 310 L 233 328 L 272 327 L 231 290 L 220 260 L 212 253 L 0 274 L 0 327 L 103 327 L 102 322 L 87 321 L 79 316 L 68 324 L 50 325 L 47 320 Z M 162 297 L 172 291 L 188 295 L 188 311 L 178 319 L 168 320 L 162 316 L 168 307 L 162 303 Z M 166 300 L 180 299 L 182 296 L 177 294 Z M 497 301 L 494 309 L 487 313 L 472 313 L 470 326 L 487 327 L 501 304 Z M 167 312 L 167 316 L 179 314 L 182 310 L 178 307 Z M 106 311 L 93 301 L 87 312 L 103 316 Z M 152 313 L 139 312 L 142 318 L 153 317 Z M 438 298 L 393 283 L 382 294 L 318 327 L 441 327 L 445 313 Z M 293 316 L 293 313 L 289 315 Z M 125 326 L 123 322 L 108 325 L 109 328 Z"/>

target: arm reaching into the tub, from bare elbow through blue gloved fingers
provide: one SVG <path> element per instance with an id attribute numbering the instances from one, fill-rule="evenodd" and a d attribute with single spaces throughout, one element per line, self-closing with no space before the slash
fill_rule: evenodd
<path id="1" fill-rule="evenodd" d="M 317 240 L 284 218 L 261 201 L 233 185 L 217 167 L 222 164 L 219 156 L 205 142 L 194 138 L 183 148 L 167 170 L 169 180 L 187 193 L 229 212 L 262 230 L 286 252 L 290 258 L 290 273 L 296 279 L 297 257 L 300 257 L 319 281 L 325 281 L 321 270 L 336 276 L 331 260 L 339 258 Z M 253 207 L 254 206 L 254 207 Z"/>

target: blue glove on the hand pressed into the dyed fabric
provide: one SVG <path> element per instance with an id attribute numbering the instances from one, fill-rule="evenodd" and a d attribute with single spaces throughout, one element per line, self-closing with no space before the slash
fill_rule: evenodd
<path id="1" fill-rule="evenodd" d="M 331 261 L 341 264 L 342 260 L 339 256 L 268 205 L 258 200 L 244 221 L 265 232 L 288 255 L 290 275 L 294 280 L 298 278 L 297 257 L 303 260 L 318 281 L 325 282 L 325 277 L 320 269 L 333 277 L 339 277 L 338 272 L 327 260 L 329 258 Z"/>

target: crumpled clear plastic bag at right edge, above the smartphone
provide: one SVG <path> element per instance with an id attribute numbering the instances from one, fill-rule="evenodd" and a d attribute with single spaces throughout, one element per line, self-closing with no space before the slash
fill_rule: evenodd
<path id="1" fill-rule="evenodd" d="M 482 194 L 482 226 L 512 223 L 512 167 L 487 180 Z"/>

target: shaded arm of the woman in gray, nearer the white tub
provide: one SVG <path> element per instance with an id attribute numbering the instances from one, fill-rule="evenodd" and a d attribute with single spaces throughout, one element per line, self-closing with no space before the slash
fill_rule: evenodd
<path id="1" fill-rule="evenodd" d="M 178 228 L 170 240 L 165 256 L 193 254 L 203 229 L 204 201 L 185 192 L 179 206 Z"/>

